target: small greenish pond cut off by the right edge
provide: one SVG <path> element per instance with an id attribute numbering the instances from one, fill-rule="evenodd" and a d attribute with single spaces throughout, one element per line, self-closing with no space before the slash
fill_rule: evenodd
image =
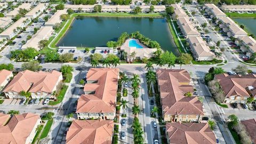
<path id="1" fill-rule="evenodd" d="M 256 36 L 256 18 L 232 18 L 237 21 L 239 25 L 244 25 L 250 34 Z"/>

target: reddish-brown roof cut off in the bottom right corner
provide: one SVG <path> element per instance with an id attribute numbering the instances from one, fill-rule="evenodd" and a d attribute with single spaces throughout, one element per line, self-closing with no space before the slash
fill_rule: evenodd
<path id="1" fill-rule="evenodd" d="M 251 140 L 253 143 L 256 143 L 256 118 L 254 119 L 248 119 L 246 121 L 241 121 L 242 124 L 244 124 L 245 129 L 249 133 Z"/>

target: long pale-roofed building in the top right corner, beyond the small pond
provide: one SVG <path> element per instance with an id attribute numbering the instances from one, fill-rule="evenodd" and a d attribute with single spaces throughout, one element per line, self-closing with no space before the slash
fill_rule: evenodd
<path id="1" fill-rule="evenodd" d="M 256 5 L 221 5 L 225 12 L 256 12 Z"/>

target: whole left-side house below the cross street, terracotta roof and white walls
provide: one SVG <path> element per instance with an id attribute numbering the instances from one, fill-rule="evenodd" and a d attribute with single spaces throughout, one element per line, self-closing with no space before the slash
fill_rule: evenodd
<path id="1" fill-rule="evenodd" d="M 62 81 L 59 71 L 51 72 L 25 70 L 14 76 L 12 81 L 5 87 L 6 98 L 23 98 L 20 92 L 30 92 L 31 98 L 51 97 Z"/>

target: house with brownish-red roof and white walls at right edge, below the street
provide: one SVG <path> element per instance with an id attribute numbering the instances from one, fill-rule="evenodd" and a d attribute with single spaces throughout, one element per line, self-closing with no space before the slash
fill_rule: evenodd
<path id="1" fill-rule="evenodd" d="M 247 99 L 256 96 L 256 76 L 249 75 L 215 75 L 215 79 L 219 82 L 224 95 L 224 103 L 246 103 Z"/>

